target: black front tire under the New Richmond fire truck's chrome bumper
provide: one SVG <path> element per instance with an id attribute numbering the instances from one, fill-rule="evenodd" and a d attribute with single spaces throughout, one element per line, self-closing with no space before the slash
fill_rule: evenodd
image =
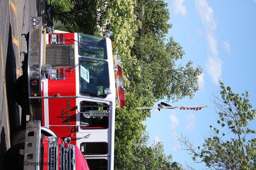
<path id="1" fill-rule="evenodd" d="M 21 75 L 14 84 L 14 99 L 20 107 L 23 107 L 24 103 L 24 93 L 23 85 L 25 84 L 25 76 Z"/>

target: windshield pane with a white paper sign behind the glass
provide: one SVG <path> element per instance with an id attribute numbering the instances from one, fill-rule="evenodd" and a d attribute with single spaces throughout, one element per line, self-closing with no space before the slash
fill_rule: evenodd
<path id="1" fill-rule="evenodd" d="M 105 98 L 109 88 L 108 63 L 103 60 L 79 58 L 80 94 Z"/>

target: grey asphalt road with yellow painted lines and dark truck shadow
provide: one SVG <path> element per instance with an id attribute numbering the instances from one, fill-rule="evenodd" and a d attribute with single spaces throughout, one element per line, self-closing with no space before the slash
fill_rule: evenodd
<path id="1" fill-rule="evenodd" d="M 27 52 L 21 34 L 28 33 L 30 16 L 41 16 L 40 3 L 41 0 L 0 0 L 0 169 L 10 148 L 10 136 L 20 125 L 21 108 L 14 100 L 13 89 L 22 74 L 24 57 L 20 52 Z"/>

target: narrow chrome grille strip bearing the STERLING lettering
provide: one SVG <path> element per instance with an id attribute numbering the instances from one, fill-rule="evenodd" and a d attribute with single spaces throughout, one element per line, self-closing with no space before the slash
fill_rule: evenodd
<path id="1" fill-rule="evenodd" d="M 48 170 L 58 169 L 58 143 L 48 145 Z"/>

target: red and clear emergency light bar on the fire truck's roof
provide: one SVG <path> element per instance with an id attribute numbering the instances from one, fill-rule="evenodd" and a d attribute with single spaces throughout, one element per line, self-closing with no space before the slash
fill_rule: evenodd
<path id="1" fill-rule="evenodd" d="M 118 107 L 122 108 L 125 105 L 124 100 L 124 83 L 121 67 L 121 58 L 119 55 L 114 56 L 114 69 L 116 79 L 116 97 L 118 99 Z"/>

